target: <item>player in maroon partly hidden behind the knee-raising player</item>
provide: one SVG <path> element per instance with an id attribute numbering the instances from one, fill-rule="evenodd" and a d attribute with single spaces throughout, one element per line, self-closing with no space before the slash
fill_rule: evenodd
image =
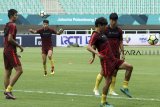
<path id="1" fill-rule="evenodd" d="M 117 13 L 111 13 L 109 18 L 110 18 L 110 25 L 106 27 L 105 35 L 108 38 L 108 41 L 109 41 L 109 44 L 111 46 L 114 56 L 120 59 L 120 53 L 121 53 L 121 59 L 124 60 L 125 57 L 124 57 L 122 30 L 117 26 L 118 15 Z M 117 70 L 115 70 L 115 73 L 112 76 L 112 83 L 110 85 L 110 90 L 109 90 L 110 95 L 118 95 L 114 91 L 116 76 L 117 76 Z M 99 88 L 100 82 L 102 81 L 102 78 L 103 76 L 101 75 L 101 73 L 99 73 L 96 77 L 96 83 L 95 83 L 95 87 L 93 90 L 95 95 L 99 95 L 98 88 Z M 125 83 L 126 81 L 124 81 L 123 87 L 126 87 Z"/>

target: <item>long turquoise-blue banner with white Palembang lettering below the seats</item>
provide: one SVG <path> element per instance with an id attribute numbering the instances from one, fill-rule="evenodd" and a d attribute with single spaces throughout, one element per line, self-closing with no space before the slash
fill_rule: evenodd
<path id="1" fill-rule="evenodd" d="M 44 19 L 50 21 L 50 25 L 94 25 L 95 19 L 105 17 L 109 20 L 108 14 L 71 14 L 71 15 L 47 15 L 42 18 L 40 15 L 20 14 L 17 24 L 22 25 L 42 25 Z M 0 25 L 8 22 L 7 14 L 0 14 Z M 159 25 L 160 15 L 119 15 L 120 25 Z"/>

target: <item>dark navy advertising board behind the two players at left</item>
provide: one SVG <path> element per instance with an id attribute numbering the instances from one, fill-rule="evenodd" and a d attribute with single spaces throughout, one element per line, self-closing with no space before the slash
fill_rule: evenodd
<path id="1" fill-rule="evenodd" d="M 17 35 L 17 43 L 24 47 L 40 47 L 42 46 L 42 41 L 40 35 Z M 56 46 L 56 36 L 52 36 L 52 44 Z M 0 35 L 0 47 L 3 47 L 3 36 Z"/>

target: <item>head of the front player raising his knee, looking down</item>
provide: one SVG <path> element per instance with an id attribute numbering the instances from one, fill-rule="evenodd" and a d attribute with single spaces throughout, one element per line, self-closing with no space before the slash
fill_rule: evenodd
<path id="1" fill-rule="evenodd" d="M 97 18 L 95 21 L 95 27 L 99 28 L 101 31 L 105 31 L 107 24 L 107 19 L 104 17 Z"/>

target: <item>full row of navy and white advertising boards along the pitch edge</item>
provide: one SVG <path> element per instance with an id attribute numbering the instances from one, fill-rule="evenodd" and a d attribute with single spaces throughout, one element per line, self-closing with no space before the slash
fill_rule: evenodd
<path id="1" fill-rule="evenodd" d="M 124 34 L 124 45 L 150 45 L 148 38 L 153 35 L 160 40 L 159 34 Z M 90 34 L 62 34 L 52 36 L 53 46 L 67 47 L 77 43 L 79 46 L 86 46 L 90 40 Z M 39 47 L 42 45 L 41 37 L 39 35 L 17 35 L 16 41 L 24 47 Z M 160 41 L 156 44 L 160 45 Z M 3 36 L 0 35 L 0 47 L 3 47 Z"/>

